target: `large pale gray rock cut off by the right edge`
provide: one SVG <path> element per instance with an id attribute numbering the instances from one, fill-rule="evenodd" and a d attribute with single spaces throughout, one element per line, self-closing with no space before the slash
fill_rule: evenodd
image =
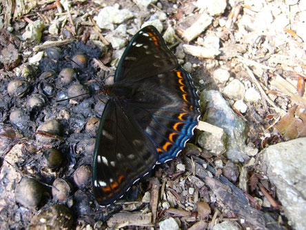
<path id="1" fill-rule="evenodd" d="M 276 186 L 288 220 L 295 229 L 306 226 L 306 137 L 274 144 L 261 153 L 261 167 Z"/>

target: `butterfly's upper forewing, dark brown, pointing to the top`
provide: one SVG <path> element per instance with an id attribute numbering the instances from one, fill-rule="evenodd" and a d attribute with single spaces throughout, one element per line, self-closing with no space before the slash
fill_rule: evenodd
<path id="1" fill-rule="evenodd" d="M 116 69 L 114 82 L 133 82 L 173 70 L 178 61 L 167 48 L 163 37 L 154 26 L 139 30 L 128 44 Z"/>

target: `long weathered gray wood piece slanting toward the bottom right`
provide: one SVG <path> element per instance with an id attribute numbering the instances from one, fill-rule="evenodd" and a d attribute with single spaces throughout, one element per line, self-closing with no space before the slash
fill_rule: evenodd
<path id="1" fill-rule="evenodd" d="M 278 226 L 277 222 L 269 214 L 249 206 L 243 191 L 234 186 L 227 178 L 223 175 L 216 178 L 214 169 L 209 165 L 207 169 L 204 169 L 202 166 L 206 163 L 204 160 L 199 157 L 192 158 L 196 166 L 196 175 L 210 187 L 219 204 L 234 211 L 239 218 L 244 218 L 246 222 L 259 229 L 283 229 Z M 192 171 L 192 160 L 188 157 L 184 157 L 184 160 L 186 169 Z M 213 174 L 212 178 L 208 175 L 207 170 Z"/>

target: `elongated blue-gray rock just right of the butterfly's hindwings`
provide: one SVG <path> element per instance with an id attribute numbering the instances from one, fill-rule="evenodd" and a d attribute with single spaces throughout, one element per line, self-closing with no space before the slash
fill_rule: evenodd
<path id="1" fill-rule="evenodd" d="M 201 101 L 207 102 L 207 119 L 205 122 L 223 128 L 227 134 L 226 137 L 226 154 L 228 159 L 233 162 L 245 162 L 249 159 L 247 155 L 247 125 L 243 119 L 238 117 L 229 104 L 222 97 L 221 93 L 216 90 L 203 91 Z"/>

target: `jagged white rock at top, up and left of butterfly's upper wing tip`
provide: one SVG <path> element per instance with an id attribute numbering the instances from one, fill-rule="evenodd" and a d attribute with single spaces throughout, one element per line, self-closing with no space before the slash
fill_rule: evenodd
<path id="1" fill-rule="evenodd" d="M 96 24 L 99 28 L 114 30 L 114 24 L 123 23 L 123 21 L 134 17 L 134 14 L 130 10 L 119 10 L 119 5 L 106 6 L 101 9 L 99 15 L 94 17 Z"/>

